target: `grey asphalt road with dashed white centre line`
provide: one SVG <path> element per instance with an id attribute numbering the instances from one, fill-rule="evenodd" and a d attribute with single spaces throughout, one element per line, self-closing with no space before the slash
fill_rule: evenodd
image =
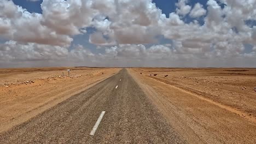
<path id="1" fill-rule="evenodd" d="M 126 69 L 30 121 L 0 143 L 186 143 Z"/>

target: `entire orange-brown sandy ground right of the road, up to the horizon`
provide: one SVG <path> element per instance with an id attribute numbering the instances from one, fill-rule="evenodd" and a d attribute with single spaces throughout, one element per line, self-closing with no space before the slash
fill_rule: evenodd
<path id="1" fill-rule="evenodd" d="M 129 71 L 189 143 L 256 143 L 256 69 Z"/>

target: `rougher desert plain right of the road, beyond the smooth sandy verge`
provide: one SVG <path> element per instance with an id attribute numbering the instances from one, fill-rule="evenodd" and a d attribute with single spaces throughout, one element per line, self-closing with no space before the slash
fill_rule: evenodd
<path id="1" fill-rule="evenodd" d="M 140 68 L 151 79 L 224 105 L 241 117 L 256 122 L 256 69 L 246 68 Z M 154 74 L 157 74 L 154 76 Z M 166 77 L 165 77 L 166 76 Z"/>

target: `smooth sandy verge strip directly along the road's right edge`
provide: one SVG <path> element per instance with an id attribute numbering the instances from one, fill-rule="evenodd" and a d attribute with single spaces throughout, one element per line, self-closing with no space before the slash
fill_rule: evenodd
<path id="1" fill-rule="evenodd" d="M 129 73 L 152 103 L 189 143 L 255 143 L 256 123 L 170 84 Z M 142 72 L 144 73 L 144 72 Z"/>

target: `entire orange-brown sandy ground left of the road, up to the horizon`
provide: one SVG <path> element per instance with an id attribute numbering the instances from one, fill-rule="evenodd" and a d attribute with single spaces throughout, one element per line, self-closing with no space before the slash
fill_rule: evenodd
<path id="1" fill-rule="evenodd" d="M 71 69 L 71 76 L 67 76 Z M 0 132 L 117 73 L 115 68 L 0 69 Z M 64 73 L 64 76 L 62 74 Z"/>

